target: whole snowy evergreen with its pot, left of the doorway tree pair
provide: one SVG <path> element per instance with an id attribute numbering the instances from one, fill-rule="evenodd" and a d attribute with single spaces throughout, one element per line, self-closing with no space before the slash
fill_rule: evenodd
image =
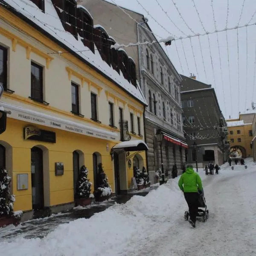
<path id="1" fill-rule="evenodd" d="M 90 183 L 88 180 L 87 175 L 88 169 L 85 166 L 81 166 L 79 178 L 76 184 L 76 206 L 90 205 L 92 203 L 92 199 L 94 198 L 94 195 L 90 193 L 92 183 Z"/>

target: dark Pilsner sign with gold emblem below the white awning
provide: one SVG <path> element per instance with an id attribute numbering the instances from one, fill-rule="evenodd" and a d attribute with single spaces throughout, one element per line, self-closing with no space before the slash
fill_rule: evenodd
<path id="1" fill-rule="evenodd" d="M 53 131 L 45 131 L 35 126 L 24 127 L 24 140 L 37 140 L 56 143 L 56 134 Z"/>

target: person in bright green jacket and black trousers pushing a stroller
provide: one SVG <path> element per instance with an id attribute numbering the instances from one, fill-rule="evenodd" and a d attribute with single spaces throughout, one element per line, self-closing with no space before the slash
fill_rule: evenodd
<path id="1" fill-rule="evenodd" d="M 200 176 L 197 172 L 194 172 L 192 165 L 187 165 L 186 172 L 180 176 L 178 185 L 184 192 L 184 197 L 189 207 L 189 223 L 192 227 L 195 227 L 198 213 L 198 192 L 203 192 L 203 186 Z"/>

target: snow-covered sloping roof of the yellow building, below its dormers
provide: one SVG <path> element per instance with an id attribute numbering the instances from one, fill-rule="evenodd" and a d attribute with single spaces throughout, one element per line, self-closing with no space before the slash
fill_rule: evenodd
<path id="1" fill-rule="evenodd" d="M 12 7 L 9 8 L 9 10 L 12 11 L 15 9 L 21 15 L 31 20 L 32 23 L 36 24 L 42 30 L 61 42 L 63 46 L 60 46 L 60 48 L 64 46 L 68 47 L 74 55 L 78 55 L 80 58 L 83 58 L 84 61 L 94 66 L 105 76 L 108 76 L 109 79 L 122 87 L 131 96 L 137 98 L 143 104 L 147 104 L 140 90 L 132 85 L 129 81 L 127 81 L 122 76 L 121 71 L 119 75 L 116 70 L 114 70 L 105 61 L 102 60 L 100 55 L 91 52 L 88 47 L 84 46 L 81 40 L 76 40 L 73 35 L 65 31 L 61 20 L 59 19 L 58 14 L 52 4 L 52 1 L 44 1 L 45 12 L 42 12 L 41 9 L 39 9 L 29 0 L 4 0 L 4 2 Z M 6 5 L 3 4 L 3 7 L 6 7 Z"/>

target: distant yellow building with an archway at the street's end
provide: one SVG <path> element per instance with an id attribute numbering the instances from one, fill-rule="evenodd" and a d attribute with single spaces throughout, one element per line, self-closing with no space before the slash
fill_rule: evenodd
<path id="1" fill-rule="evenodd" d="M 226 120 L 230 157 L 252 157 L 251 141 L 253 137 L 252 120 L 254 113 L 240 114 L 239 119 Z"/>

